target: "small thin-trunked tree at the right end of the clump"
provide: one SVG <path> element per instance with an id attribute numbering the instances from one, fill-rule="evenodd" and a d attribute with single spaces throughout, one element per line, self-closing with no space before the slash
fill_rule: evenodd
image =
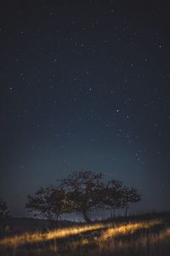
<path id="1" fill-rule="evenodd" d="M 141 201 L 141 195 L 135 188 L 127 188 L 124 186 L 122 189 L 122 208 L 125 208 L 125 216 L 127 217 L 127 210 L 130 203 Z"/>

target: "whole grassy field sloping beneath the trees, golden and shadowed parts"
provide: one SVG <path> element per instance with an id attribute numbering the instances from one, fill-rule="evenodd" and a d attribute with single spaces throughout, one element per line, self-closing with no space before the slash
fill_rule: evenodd
<path id="1" fill-rule="evenodd" d="M 1 256 L 170 255 L 169 218 L 78 224 L 0 239 Z"/>

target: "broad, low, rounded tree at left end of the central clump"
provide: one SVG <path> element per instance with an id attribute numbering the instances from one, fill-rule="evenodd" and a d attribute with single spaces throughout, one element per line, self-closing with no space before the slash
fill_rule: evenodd
<path id="1" fill-rule="evenodd" d="M 37 190 L 34 196 L 28 195 L 26 208 L 54 224 L 68 212 L 68 201 L 63 190 L 47 187 Z"/>

